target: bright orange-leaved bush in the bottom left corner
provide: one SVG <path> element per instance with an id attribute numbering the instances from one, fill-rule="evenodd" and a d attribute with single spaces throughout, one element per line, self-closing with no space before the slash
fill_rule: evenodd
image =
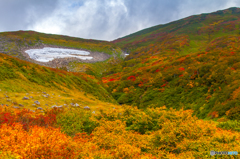
<path id="1" fill-rule="evenodd" d="M 0 150 L 20 158 L 73 158 L 77 145 L 60 129 L 34 126 L 25 131 L 22 124 L 1 125 Z"/>

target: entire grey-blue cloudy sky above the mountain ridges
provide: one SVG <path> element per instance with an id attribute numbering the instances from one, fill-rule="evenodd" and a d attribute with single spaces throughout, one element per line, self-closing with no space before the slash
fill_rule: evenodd
<path id="1" fill-rule="evenodd" d="M 240 7 L 240 0 L 0 0 L 0 32 L 35 30 L 111 41 L 230 7 Z"/>

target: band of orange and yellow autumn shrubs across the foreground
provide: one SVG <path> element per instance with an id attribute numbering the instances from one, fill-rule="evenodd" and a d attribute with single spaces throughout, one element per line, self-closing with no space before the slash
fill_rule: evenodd
<path id="1" fill-rule="evenodd" d="M 199 120 L 190 110 L 123 108 L 121 111 L 101 111 L 96 115 L 80 109 L 53 109 L 39 115 L 40 112 L 1 107 L 0 154 L 18 158 L 157 159 L 205 158 L 210 149 L 240 150 L 239 132 L 223 130 L 213 122 Z M 83 115 L 84 119 L 72 118 L 73 125 L 95 122 L 95 128 L 85 132 L 72 127 L 70 129 L 78 131 L 69 136 L 65 133 L 69 128 L 59 127 L 56 120 L 51 124 L 32 122 L 33 118 L 44 121 L 50 114 L 55 114 L 64 125 L 69 120 L 63 118 L 67 112 Z M 25 117 L 25 122 L 19 120 L 19 114 Z M 28 129 L 24 128 L 26 125 Z"/>

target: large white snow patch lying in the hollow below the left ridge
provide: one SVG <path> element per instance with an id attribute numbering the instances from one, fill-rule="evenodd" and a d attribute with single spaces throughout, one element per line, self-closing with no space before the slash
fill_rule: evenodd
<path id="1" fill-rule="evenodd" d="M 81 60 L 91 60 L 91 56 L 81 56 L 89 55 L 87 51 L 74 50 L 74 49 L 61 49 L 61 48 L 51 48 L 44 47 L 43 49 L 30 49 L 25 51 L 31 59 L 39 62 L 49 62 L 56 58 L 65 57 L 76 57 Z"/>

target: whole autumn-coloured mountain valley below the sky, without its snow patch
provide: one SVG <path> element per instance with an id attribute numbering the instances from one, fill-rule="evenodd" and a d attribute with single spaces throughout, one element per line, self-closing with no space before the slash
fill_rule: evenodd
<path id="1" fill-rule="evenodd" d="M 229 8 L 111 42 L 0 33 L 0 158 L 238 158 L 210 151 L 240 152 L 239 26 Z M 93 58 L 25 52 L 44 47 Z"/>

